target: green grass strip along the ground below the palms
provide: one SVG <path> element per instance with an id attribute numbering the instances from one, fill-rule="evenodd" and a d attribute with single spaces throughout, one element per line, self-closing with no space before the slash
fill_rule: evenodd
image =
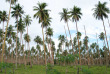
<path id="1" fill-rule="evenodd" d="M 78 66 L 54 66 L 52 69 L 55 72 L 51 70 L 47 74 L 77 74 Z M 8 68 L 6 74 L 13 74 L 12 71 L 12 68 Z M 106 66 L 91 66 L 89 69 L 87 66 L 82 66 L 82 70 L 79 69 L 79 71 L 79 74 L 106 74 Z M 5 70 L 0 74 L 5 74 Z M 14 74 L 46 74 L 46 68 L 43 65 L 33 65 L 32 68 L 26 66 L 24 69 L 21 65 Z M 110 74 L 110 67 L 107 68 L 107 74 Z"/>

